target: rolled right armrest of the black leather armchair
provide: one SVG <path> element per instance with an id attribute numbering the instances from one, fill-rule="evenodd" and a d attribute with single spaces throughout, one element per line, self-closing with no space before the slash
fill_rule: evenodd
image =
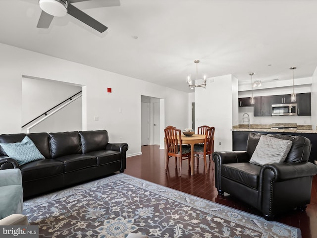
<path id="1" fill-rule="evenodd" d="M 265 170 L 271 170 L 274 176 L 274 182 L 280 182 L 289 179 L 297 179 L 317 174 L 317 166 L 310 162 L 302 163 L 272 163 L 262 166 L 260 179 L 264 176 Z"/>

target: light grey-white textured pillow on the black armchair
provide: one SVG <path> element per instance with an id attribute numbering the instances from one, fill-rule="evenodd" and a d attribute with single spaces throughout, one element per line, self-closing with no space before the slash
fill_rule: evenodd
<path id="1" fill-rule="evenodd" d="M 262 135 L 250 163 L 262 166 L 264 164 L 284 162 L 291 147 L 291 140 Z"/>

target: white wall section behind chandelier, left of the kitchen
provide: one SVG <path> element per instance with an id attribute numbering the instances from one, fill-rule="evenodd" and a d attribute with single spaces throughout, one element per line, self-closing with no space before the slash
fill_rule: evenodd
<path id="1" fill-rule="evenodd" d="M 237 89 L 237 85 L 233 86 L 237 80 L 231 75 L 224 75 L 210 78 L 207 82 L 206 89 L 195 89 L 195 126 L 214 126 L 214 150 L 232 150 L 232 103 L 238 105 L 238 98 L 234 96 L 237 92 L 232 90 Z"/>

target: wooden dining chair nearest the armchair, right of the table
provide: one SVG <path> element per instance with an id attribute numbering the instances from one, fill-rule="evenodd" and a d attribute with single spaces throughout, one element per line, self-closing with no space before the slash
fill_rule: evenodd
<path id="1" fill-rule="evenodd" d="M 214 136 L 214 127 L 212 126 L 206 129 L 204 145 L 201 145 L 201 144 L 194 145 L 195 157 L 198 159 L 200 158 L 200 155 L 204 156 L 206 173 L 208 173 L 206 157 L 208 155 L 210 160 L 210 157 L 213 153 L 213 136 Z"/>

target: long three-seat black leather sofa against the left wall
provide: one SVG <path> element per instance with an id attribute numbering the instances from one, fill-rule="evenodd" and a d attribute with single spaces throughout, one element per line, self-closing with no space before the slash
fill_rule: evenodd
<path id="1" fill-rule="evenodd" d="M 24 199 L 126 168 L 128 144 L 108 143 L 106 130 L 3 134 L 0 143 L 20 142 L 26 135 L 45 159 L 19 165 L 0 146 L 0 169 L 21 170 Z"/>

